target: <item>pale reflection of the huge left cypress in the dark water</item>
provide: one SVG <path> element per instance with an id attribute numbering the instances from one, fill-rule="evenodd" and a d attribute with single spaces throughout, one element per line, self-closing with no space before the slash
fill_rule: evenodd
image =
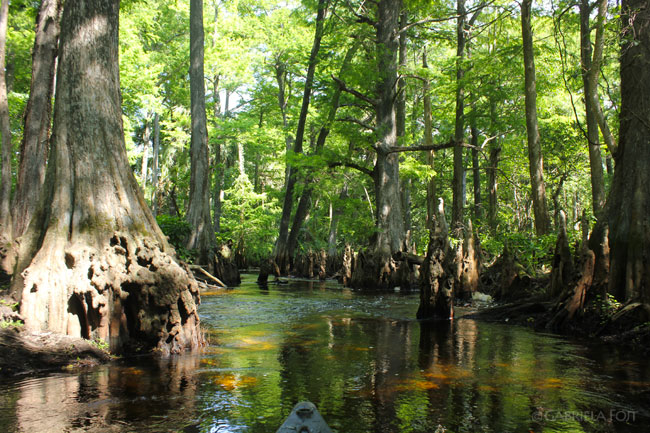
<path id="1" fill-rule="evenodd" d="M 0 386 L 2 431 L 175 431 L 195 411 L 199 357 L 142 359 Z M 13 417 L 7 417 L 11 413 Z"/>

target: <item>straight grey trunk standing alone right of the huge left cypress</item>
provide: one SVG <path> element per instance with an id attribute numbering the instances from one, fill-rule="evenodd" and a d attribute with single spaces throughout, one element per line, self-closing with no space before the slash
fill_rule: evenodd
<path id="1" fill-rule="evenodd" d="M 203 1 L 190 1 L 190 94 L 192 142 L 190 145 L 190 203 L 187 221 L 192 232 L 188 249 L 198 250 L 198 263 L 212 265 L 216 240 L 210 216 L 210 167 L 205 114 L 203 72 Z"/>

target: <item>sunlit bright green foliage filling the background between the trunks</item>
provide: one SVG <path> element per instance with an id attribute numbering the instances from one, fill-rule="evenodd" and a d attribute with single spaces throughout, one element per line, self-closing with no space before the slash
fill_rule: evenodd
<path id="1" fill-rule="evenodd" d="M 334 214 L 339 214 L 338 248 L 346 242 L 355 249 L 366 247 L 375 232 L 372 179 L 367 173 L 341 165 L 345 161 L 372 170 L 376 141 L 373 130 L 376 113 L 372 104 L 343 92 L 336 121 L 326 125 L 330 132 L 325 147 L 315 151 L 316 137 L 327 122 L 332 97 L 338 89 L 332 76 L 341 78 L 348 88 L 368 98 L 377 96 L 376 32 L 368 25 L 377 19 L 375 3 L 356 0 L 345 5 L 330 3 L 330 12 L 334 13 L 328 15 L 325 23 L 307 116 L 305 152 L 287 152 L 300 110 L 316 5 L 315 0 L 204 2 L 211 188 L 213 200 L 216 194 L 223 195 L 222 230 L 217 237 L 219 241 L 243 242 L 252 261 L 268 254 L 275 241 L 280 215 L 278 203 L 284 198 L 288 164 L 300 175 L 296 203 L 304 188 L 305 174 L 309 173 L 312 179 L 312 208 L 300 233 L 300 248 L 326 247 Z M 484 210 L 487 209 L 489 153 L 493 148 L 500 149 L 495 224 L 488 226 L 485 213 L 482 219 L 474 221 L 483 250 L 494 257 L 508 245 L 530 272 L 536 272 L 549 264 L 555 235 L 538 238 L 531 234 L 533 212 L 525 146 L 521 28 L 519 16 L 511 6 L 500 1 L 490 3 L 476 15 L 472 28 L 468 29 L 471 55 L 462 62 L 465 75 L 461 80 L 465 93 L 465 141 L 470 140 L 469 125 L 473 123 L 481 147 L 479 180 Z M 551 214 L 560 209 L 567 211 L 573 243 L 578 236 L 575 225 L 583 211 L 591 217 L 592 205 L 587 143 L 581 130 L 584 108 L 579 21 L 575 10 L 565 6 L 561 3 L 551 5 L 556 10 L 536 9 L 532 19 L 549 211 Z M 410 26 L 405 32 L 407 61 L 400 66 L 400 74 L 405 83 L 406 135 L 400 138 L 399 145 L 424 144 L 424 79 L 430 84 L 433 141 L 446 143 L 454 134 L 458 86 L 455 4 L 408 0 L 405 7 L 409 23 L 428 22 Z M 30 54 L 38 2 L 12 1 L 10 8 L 7 71 L 11 72 L 8 81 L 12 83 L 9 93 L 12 141 L 17 149 L 31 78 Z M 563 11 L 561 19 L 559 11 Z M 618 11 L 612 13 L 614 17 Z M 620 23 L 613 17 L 605 28 L 599 92 L 610 129 L 616 131 L 620 106 Z M 137 179 L 147 181 L 145 197 L 151 200 L 156 191 L 158 222 L 163 232 L 179 256 L 191 261 L 194 252 L 184 248 L 190 227 L 182 219 L 190 189 L 188 29 L 188 0 L 128 0 L 121 4 L 120 83 L 129 162 Z M 351 46 L 358 50 L 342 70 L 343 59 Z M 423 67 L 424 53 L 428 68 Z M 280 83 L 284 86 L 283 95 L 280 95 Z M 155 114 L 160 116 L 161 147 L 159 182 L 153 186 L 153 164 L 147 165 L 149 172 L 140 171 L 145 149 L 148 157 L 152 157 L 152 142 L 145 141 L 144 130 L 145 125 L 152 129 Z M 239 169 L 240 158 L 243 158 L 243 172 Z M 16 163 L 17 158 L 14 166 Z M 466 168 L 471 164 L 467 150 Z M 410 185 L 411 239 L 420 254 L 425 252 L 428 242 L 426 184 L 434 178 L 437 196 L 449 208 L 452 176 L 450 149 L 435 152 L 432 165 L 426 152 L 400 154 L 400 179 Z M 470 215 L 475 204 L 471 170 L 466 180 L 466 215 Z M 609 181 L 608 177 L 606 182 Z M 344 189 L 347 193 L 341 197 Z"/>

